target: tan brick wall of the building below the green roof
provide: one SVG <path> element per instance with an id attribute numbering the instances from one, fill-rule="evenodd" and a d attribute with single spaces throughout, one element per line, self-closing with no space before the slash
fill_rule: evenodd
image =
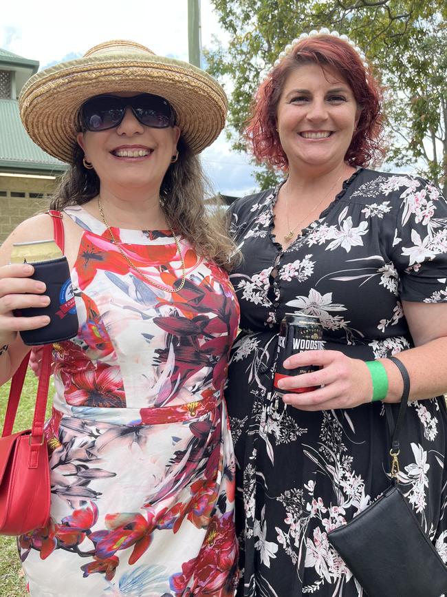
<path id="1" fill-rule="evenodd" d="M 17 224 L 48 209 L 56 185 L 54 179 L 0 176 L 0 243 Z"/>

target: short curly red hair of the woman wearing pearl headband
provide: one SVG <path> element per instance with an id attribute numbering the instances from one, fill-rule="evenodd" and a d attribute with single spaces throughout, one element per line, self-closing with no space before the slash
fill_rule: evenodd
<path id="1" fill-rule="evenodd" d="M 276 131 L 276 109 L 290 72 L 309 63 L 336 70 L 351 88 L 360 108 L 360 118 L 345 161 L 351 166 L 374 163 L 384 154 L 380 147 L 382 89 L 370 70 L 365 70 L 362 59 L 347 41 L 326 34 L 298 41 L 259 86 L 245 131 L 254 156 L 260 162 L 287 169 L 287 156 Z"/>

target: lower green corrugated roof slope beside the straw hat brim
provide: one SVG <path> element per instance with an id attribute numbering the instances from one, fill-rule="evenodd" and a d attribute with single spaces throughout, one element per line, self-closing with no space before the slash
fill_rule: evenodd
<path id="1" fill-rule="evenodd" d="M 30 139 L 16 100 L 0 99 L 0 167 L 59 172 L 67 168 Z"/>

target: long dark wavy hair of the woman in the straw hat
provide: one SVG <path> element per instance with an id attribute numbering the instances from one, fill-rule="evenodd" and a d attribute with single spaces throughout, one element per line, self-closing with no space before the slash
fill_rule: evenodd
<path id="1" fill-rule="evenodd" d="M 164 175 L 160 199 L 168 223 L 187 238 L 198 255 L 214 260 L 230 269 L 237 260 L 235 245 L 226 229 L 222 210 L 210 213 L 204 198 L 210 194 L 199 158 L 193 154 L 180 136 L 177 143 L 179 157 Z M 65 172 L 51 201 L 51 209 L 64 209 L 67 205 L 83 205 L 96 197 L 100 180 L 94 169 L 83 165 L 84 152 L 76 143 L 71 167 Z M 217 200 L 217 198 L 216 198 Z"/>

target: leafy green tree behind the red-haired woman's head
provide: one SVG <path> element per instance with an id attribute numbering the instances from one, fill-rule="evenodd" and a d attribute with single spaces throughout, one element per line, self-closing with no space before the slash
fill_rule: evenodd
<path id="1" fill-rule="evenodd" d="M 347 34 L 382 73 L 386 86 L 389 160 L 411 165 L 447 189 L 447 4 L 420 0 L 212 0 L 230 34 L 215 40 L 208 70 L 231 88 L 228 136 L 241 132 L 259 82 L 287 43 L 327 27 Z M 262 188 L 277 173 L 256 175 Z"/>

